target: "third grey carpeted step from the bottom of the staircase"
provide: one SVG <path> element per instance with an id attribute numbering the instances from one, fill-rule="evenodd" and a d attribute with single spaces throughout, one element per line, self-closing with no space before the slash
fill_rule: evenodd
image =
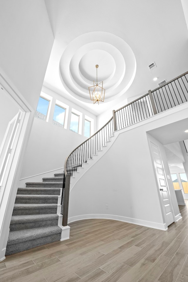
<path id="1" fill-rule="evenodd" d="M 57 204 L 14 204 L 12 215 L 57 213 Z"/>

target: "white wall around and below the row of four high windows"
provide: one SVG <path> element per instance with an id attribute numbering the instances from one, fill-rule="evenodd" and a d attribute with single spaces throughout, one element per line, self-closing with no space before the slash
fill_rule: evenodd
<path id="1" fill-rule="evenodd" d="M 46 122 L 38 118 L 34 118 L 31 135 L 24 155 L 21 179 L 30 178 L 33 175 L 38 175 L 63 167 L 65 159 L 69 153 L 87 139 L 87 137 L 84 137 L 85 115 L 94 120 L 94 132 L 96 131 L 95 115 L 81 107 L 78 107 L 69 100 L 64 99 L 46 87 L 43 87 L 42 90 L 44 93 L 53 98 L 49 120 Z M 67 129 L 52 124 L 56 99 L 69 106 L 68 113 L 66 113 L 66 115 L 68 115 Z M 72 108 L 83 114 L 82 135 L 69 130 Z M 53 172 L 51 173 L 51 176 L 53 176 Z M 29 181 L 31 181 L 31 179 Z M 33 181 L 36 181 L 36 178 Z M 38 178 L 38 181 L 42 181 L 42 175 L 40 176 L 40 179 Z M 21 185 L 23 186 L 23 181 L 21 182 Z"/>

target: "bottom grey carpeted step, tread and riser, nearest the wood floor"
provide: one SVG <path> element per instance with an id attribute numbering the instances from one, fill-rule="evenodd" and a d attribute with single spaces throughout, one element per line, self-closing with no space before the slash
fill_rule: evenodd
<path id="1" fill-rule="evenodd" d="M 18 253 L 61 239 L 59 226 L 48 226 L 9 232 L 6 255 Z"/>

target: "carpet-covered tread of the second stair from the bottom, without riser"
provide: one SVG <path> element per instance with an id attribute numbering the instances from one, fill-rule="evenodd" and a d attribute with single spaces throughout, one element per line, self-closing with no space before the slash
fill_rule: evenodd
<path id="1" fill-rule="evenodd" d="M 58 219 L 58 215 L 55 213 L 33 214 L 33 215 L 12 215 L 11 224 L 36 222 L 42 220 L 54 220 L 54 219 Z"/>

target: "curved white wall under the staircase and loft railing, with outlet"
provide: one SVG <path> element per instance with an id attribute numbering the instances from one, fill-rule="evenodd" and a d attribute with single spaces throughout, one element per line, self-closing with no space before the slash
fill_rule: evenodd
<path id="1" fill-rule="evenodd" d="M 115 132 L 115 142 L 85 172 L 70 191 L 68 220 L 112 218 L 164 228 L 158 185 L 152 167 L 147 131 L 184 119 L 187 104 L 160 113 Z M 165 174 L 169 167 L 160 144 Z M 174 215 L 179 208 L 172 181 L 168 180 Z M 108 209 L 106 209 L 106 204 Z"/>

